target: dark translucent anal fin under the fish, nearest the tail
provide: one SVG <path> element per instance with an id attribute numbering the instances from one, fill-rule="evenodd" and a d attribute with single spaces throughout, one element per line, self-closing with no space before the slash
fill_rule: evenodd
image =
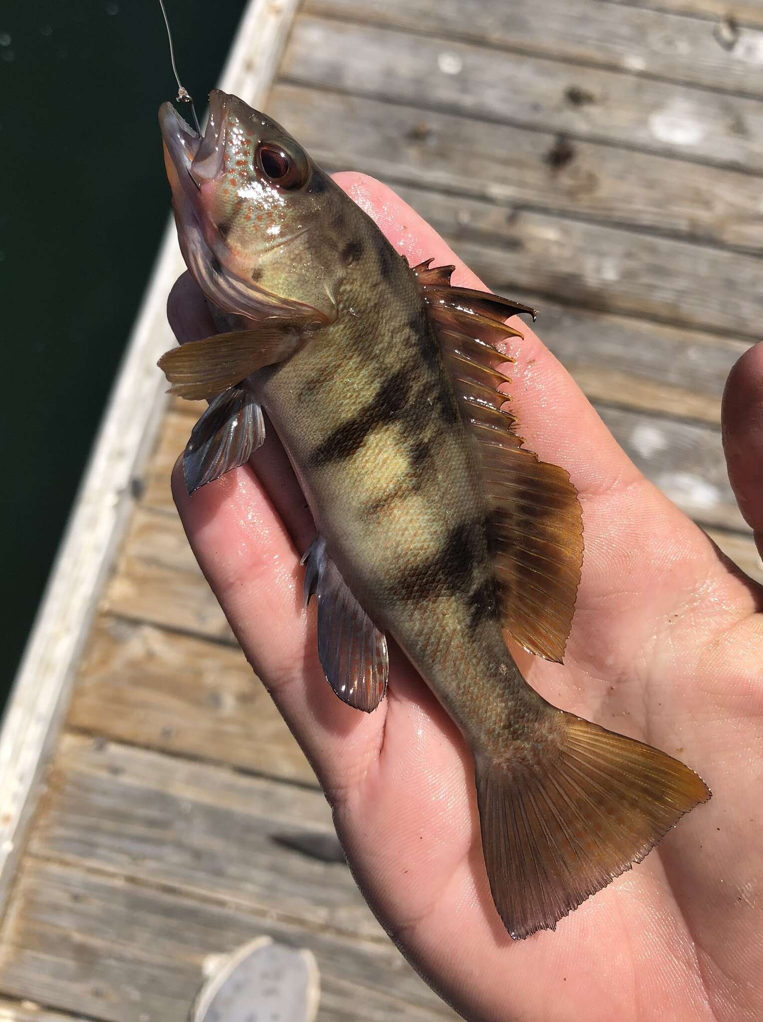
<path id="1" fill-rule="evenodd" d="M 318 599 L 318 655 L 339 698 L 370 713 L 384 698 L 387 641 L 350 593 L 317 537 L 302 558 L 304 603 Z"/>

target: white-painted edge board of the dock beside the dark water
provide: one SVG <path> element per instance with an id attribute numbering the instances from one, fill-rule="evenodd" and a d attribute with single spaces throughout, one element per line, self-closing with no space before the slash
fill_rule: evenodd
<path id="1" fill-rule="evenodd" d="M 222 76 L 225 90 L 255 106 L 265 103 L 296 4 L 254 0 L 247 6 Z M 0 913 L 101 585 L 124 535 L 131 481 L 164 404 L 155 363 L 169 346 L 166 293 L 181 268 L 175 229 L 169 227 L 6 707 L 0 733 Z"/>

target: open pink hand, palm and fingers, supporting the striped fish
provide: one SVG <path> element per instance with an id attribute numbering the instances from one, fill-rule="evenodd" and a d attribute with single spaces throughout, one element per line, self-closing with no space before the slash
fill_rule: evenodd
<path id="1" fill-rule="evenodd" d="M 340 180 L 372 215 L 384 211 L 385 233 L 412 262 L 452 261 L 381 186 Z M 474 280 L 457 271 L 457 282 Z M 205 325 L 189 325 L 194 296 L 181 290 L 175 319 L 188 339 Z M 482 864 L 471 757 L 404 660 L 393 652 L 388 697 L 369 716 L 326 685 L 299 601 L 298 557 L 314 526 L 272 439 L 256 475 L 231 473 L 192 501 L 178 480 L 189 538 L 316 765 L 364 893 L 468 1018 L 759 1017 L 760 593 L 639 475 L 533 335 L 512 351 L 522 431 L 569 469 L 586 542 L 565 665 L 515 651 L 520 666 L 551 702 L 683 758 L 715 796 L 556 933 L 520 943 L 506 934 Z"/>

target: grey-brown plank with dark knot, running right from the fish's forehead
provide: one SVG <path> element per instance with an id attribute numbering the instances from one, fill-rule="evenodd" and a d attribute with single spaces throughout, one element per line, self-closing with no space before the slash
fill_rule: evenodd
<path id="1" fill-rule="evenodd" d="M 582 140 L 560 149 L 555 132 L 288 82 L 269 110 L 331 170 L 763 248 L 760 181 L 748 174 L 688 162 L 677 174 L 674 159 L 654 153 Z"/>

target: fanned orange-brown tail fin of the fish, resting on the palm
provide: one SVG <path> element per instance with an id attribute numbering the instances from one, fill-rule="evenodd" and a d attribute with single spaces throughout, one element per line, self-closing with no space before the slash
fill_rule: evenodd
<path id="1" fill-rule="evenodd" d="M 477 757 L 487 876 L 515 940 L 555 930 L 710 798 L 705 782 L 664 752 L 557 713 L 532 757 Z"/>

